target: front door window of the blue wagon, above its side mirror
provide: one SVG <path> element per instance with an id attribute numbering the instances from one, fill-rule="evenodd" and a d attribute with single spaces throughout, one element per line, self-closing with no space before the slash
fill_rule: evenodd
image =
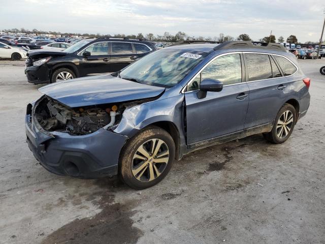
<path id="1" fill-rule="evenodd" d="M 202 71 L 202 80 L 206 78 L 219 80 L 223 82 L 223 85 L 242 82 L 240 54 L 228 54 L 217 57 Z"/>

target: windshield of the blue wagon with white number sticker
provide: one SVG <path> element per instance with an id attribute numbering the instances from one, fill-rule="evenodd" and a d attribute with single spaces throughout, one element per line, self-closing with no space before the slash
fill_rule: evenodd
<path id="1" fill-rule="evenodd" d="M 207 55 L 198 51 L 160 49 L 127 66 L 120 77 L 148 85 L 172 87 Z"/>

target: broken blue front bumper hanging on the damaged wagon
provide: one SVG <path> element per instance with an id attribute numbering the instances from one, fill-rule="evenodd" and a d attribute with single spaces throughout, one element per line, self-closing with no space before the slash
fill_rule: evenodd
<path id="1" fill-rule="evenodd" d="M 25 118 L 27 144 L 34 157 L 48 171 L 78 178 L 116 175 L 120 151 L 126 136 L 100 129 L 84 136 L 53 132 L 53 137 L 39 131 Z"/>

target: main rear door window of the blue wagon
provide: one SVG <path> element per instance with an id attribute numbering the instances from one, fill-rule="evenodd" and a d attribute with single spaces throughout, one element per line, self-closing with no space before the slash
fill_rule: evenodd
<path id="1" fill-rule="evenodd" d="M 248 80 L 264 80 L 272 78 L 272 69 L 269 55 L 267 54 L 245 54 Z"/>

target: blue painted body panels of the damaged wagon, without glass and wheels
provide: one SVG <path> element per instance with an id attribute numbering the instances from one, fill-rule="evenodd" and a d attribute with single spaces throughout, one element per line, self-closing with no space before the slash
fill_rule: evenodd
<path id="1" fill-rule="evenodd" d="M 110 166 L 117 166 L 120 150 L 124 143 L 127 143 L 127 138 L 133 137 L 143 128 L 157 122 L 172 123 L 176 127 L 179 133 L 179 144 L 177 146 L 180 148 L 177 158 L 180 159 L 182 155 L 192 151 L 191 146 L 208 145 L 209 140 L 218 137 L 234 139 L 238 132 L 259 128 L 266 124 L 272 126 L 277 112 L 290 99 L 294 99 L 299 103 L 300 117 L 306 114 L 310 95 L 308 88 L 302 81 L 305 76 L 300 71 L 300 68 L 292 76 L 268 79 L 266 85 L 264 85 L 263 80 L 246 82 L 245 77 L 242 83 L 224 86 L 219 93 L 207 92 L 204 99 L 198 99 L 198 91 L 182 93 L 182 89 L 194 75 L 212 58 L 222 53 L 250 51 L 279 54 L 289 58 L 291 62 L 299 67 L 297 60 L 290 53 L 258 48 L 234 48 L 215 51 L 213 50 L 215 46 L 215 44 L 192 44 L 168 47 L 209 53 L 201 63 L 197 64 L 178 84 L 171 88 L 139 84 L 110 75 L 84 77 L 45 86 L 40 89 L 40 92 L 70 107 L 100 105 L 152 97 L 156 97 L 156 99 L 125 109 L 120 123 L 114 127 L 113 131 L 100 129 L 87 135 L 86 143 L 81 142 L 85 137 L 66 136 L 62 135 L 66 134 L 62 132 L 53 133 L 54 138 L 50 138 L 39 132 L 33 125 L 26 126 L 27 137 L 32 138 L 32 134 L 35 134 L 35 142 L 32 144 L 36 148 L 44 142 L 49 145 L 53 143 L 53 146 L 50 146 L 53 157 L 55 157 L 54 151 L 60 150 L 60 148 L 63 148 L 61 151 L 68 148 L 67 150 L 70 152 L 82 150 L 85 155 L 94 156 L 94 158 L 97 158 L 98 154 L 102 154 L 95 161 L 98 161 L 101 167 L 106 169 Z M 280 84 L 285 84 L 286 88 L 278 90 L 277 86 Z M 248 93 L 246 99 L 243 101 L 236 100 L 236 96 L 242 92 Z M 29 115 L 27 114 L 27 116 Z M 26 122 L 26 124 L 28 123 Z M 266 132 L 267 130 L 270 131 L 270 127 L 254 130 L 254 133 Z M 206 143 L 206 141 L 208 142 Z M 200 148 L 200 146 L 197 146 L 197 148 Z M 49 167 L 53 163 L 43 162 L 44 167 Z M 114 170 L 110 172 L 114 174 Z M 54 170 L 52 171 L 54 172 Z"/>

